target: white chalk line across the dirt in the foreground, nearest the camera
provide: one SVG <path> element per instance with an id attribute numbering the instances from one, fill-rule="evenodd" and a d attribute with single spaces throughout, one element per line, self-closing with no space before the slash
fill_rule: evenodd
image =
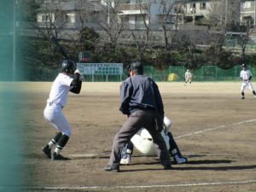
<path id="1" fill-rule="evenodd" d="M 247 184 L 256 183 L 256 180 L 247 181 L 231 181 L 231 182 L 211 182 L 211 183 L 183 183 L 183 184 L 157 184 L 157 185 L 127 185 L 127 186 L 79 186 L 79 187 L 32 187 L 24 189 L 145 189 L 145 188 L 171 188 L 171 187 L 193 187 L 193 186 L 209 186 L 209 185 L 224 185 L 224 184 Z"/>

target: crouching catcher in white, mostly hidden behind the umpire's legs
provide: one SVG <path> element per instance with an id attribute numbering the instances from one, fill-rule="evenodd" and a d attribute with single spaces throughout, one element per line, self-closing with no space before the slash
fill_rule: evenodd
<path id="1" fill-rule="evenodd" d="M 174 162 L 176 164 L 185 164 L 188 162 L 188 159 L 183 157 L 179 148 L 177 147 L 177 143 L 172 136 L 171 125 L 171 119 L 168 119 L 165 116 L 164 129 L 161 131 L 161 135 L 165 139 L 166 147 L 169 150 L 169 153 L 172 155 Z M 156 155 L 152 137 L 146 129 L 142 128 L 134 137 L 131 138 L 129 143 L 125 143 L 122 150 L 122 159 L 120 164 L 127 165 L 130 163 L 133 146 L 135 146 L 141 153 L 146 156 Z"/>

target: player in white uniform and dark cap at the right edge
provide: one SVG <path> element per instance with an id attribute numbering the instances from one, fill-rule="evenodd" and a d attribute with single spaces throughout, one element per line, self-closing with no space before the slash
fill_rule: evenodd
<path id="1" fill-rule="evenodd" d="M 253 84 L 251 83 L 251 79 L 253 78 L 253 74 L 250 71 L 250 69 L 247 69 L 246 64 L 241 65 L 241 73 L 240 73 L 240 78 L 242 79 L 241 83 L 241 99 L 245 99 L 244 96 L 244 90 L 246 87 L 249 88 L 249 90 L 253 91 L 253 95 L 256 97 L 255 90 L 253 89 Z"/>

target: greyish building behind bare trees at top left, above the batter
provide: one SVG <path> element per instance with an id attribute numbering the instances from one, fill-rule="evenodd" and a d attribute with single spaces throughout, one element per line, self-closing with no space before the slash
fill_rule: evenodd
<path id="1" fill-rule="evenodd" d="M 98 20 L 106 20 L 102 14 L 104 7 L 87 0 L 37 0 L 39 27 L 59 29 L 81 29 L 84 26 L 96 27 Z"/>

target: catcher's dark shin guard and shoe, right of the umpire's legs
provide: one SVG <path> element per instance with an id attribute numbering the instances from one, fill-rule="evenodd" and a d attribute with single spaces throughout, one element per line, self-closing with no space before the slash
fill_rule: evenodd
<path id="1" fill-rule="evenodd" d="M 180 150 L 177 147 L 177 143 L 175 142 L 172 133 L 168 132 L 167 136 L 169 137 L 170 149 L 169 152 L 173 156 L 173 160 L 177 164 L 184 164 L 188 162 L 186 157 L 180 153 Z"/>

